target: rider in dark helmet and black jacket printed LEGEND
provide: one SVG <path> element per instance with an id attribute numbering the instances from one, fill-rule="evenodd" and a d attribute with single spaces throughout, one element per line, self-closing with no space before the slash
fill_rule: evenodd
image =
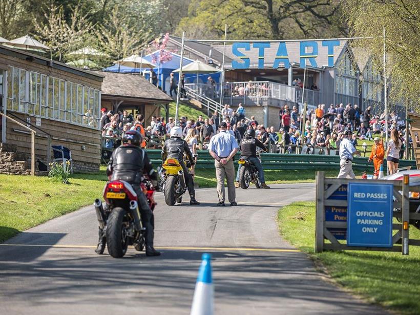
<path id="1" fill-rule="evenodd" d="M 262 188 L 270 188 L 265 183 L 264 179 L 264 170 L 262 168 L 260 160 L 257 158 L 257 146 L 264 151 L 267 151 L 264 144 L 260 140 L 255 138 L 255 130 L 247 129 L 245 136 L 241 141 L 241 157 L 247 157 L 251 163 L 253 163 L 258 169 L 258 178 L 260 180 L 260 186 Z M 236 174 L 235 187 L 239 187 L 239 170 L 241 169 L 242 164 L 239 164 L 238 173 Z"/>

